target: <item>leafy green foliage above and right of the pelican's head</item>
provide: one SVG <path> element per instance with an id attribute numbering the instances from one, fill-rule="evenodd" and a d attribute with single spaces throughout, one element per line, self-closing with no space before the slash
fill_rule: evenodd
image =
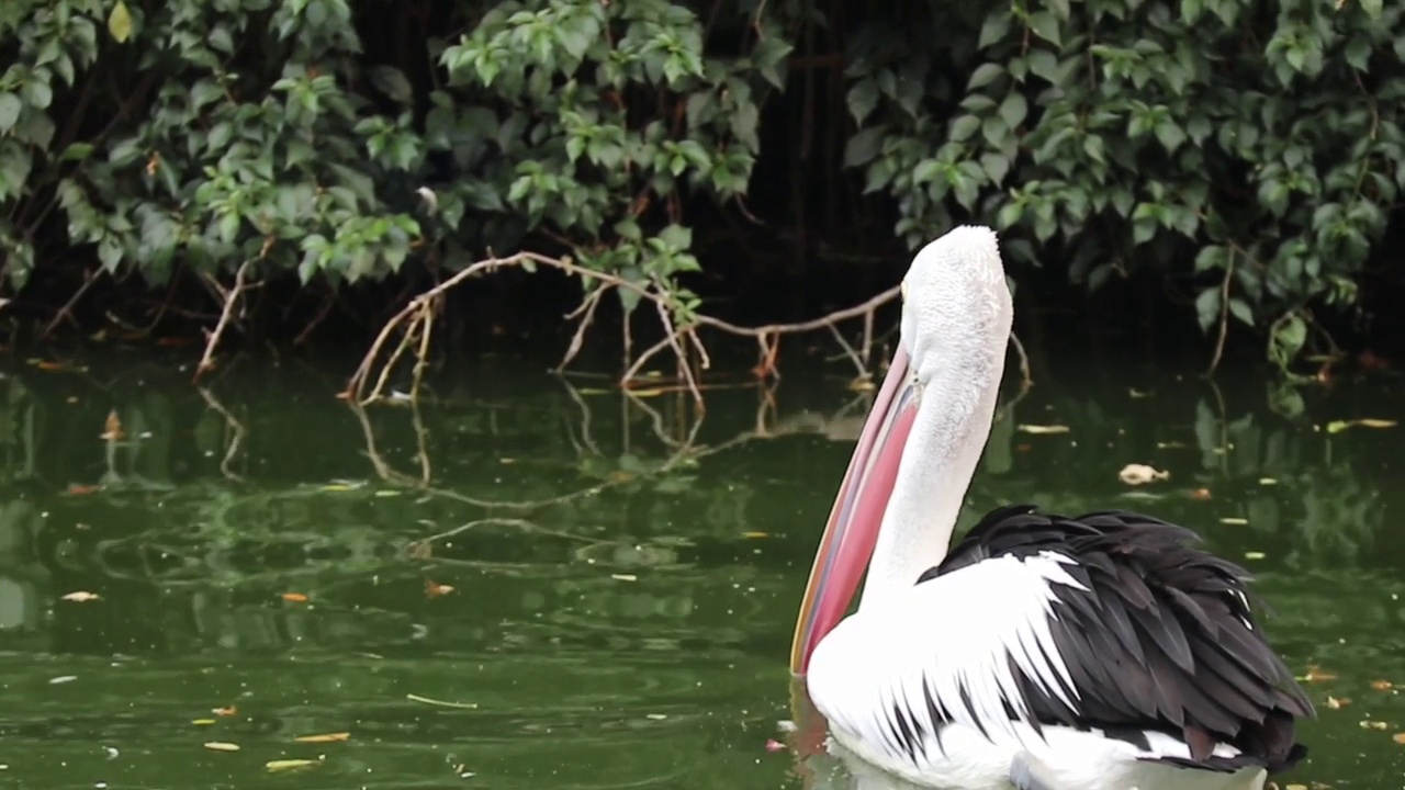
<path id="1" fill-rule="evenodd" d="M 971 218 L 1073 283 L 1159 270 L 1207 332 L 1270 330 L 1356 276 L 1405 170 L 1398 6 L 1302 0 L 924 4 L 850 39 L 847 163 L 910 246 Z M 1041 252 L 1035 252 L 1041 250 Z M 1186 301 L 1191 301 L 1187 297 Z"/>

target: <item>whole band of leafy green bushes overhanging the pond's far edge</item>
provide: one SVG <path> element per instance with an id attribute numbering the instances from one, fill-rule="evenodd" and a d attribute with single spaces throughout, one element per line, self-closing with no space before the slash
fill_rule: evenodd
<path id="1" fill-rule="evenodd" d="M 1380 0 L 10 0 L 4 273 L 76 246 L 337 285 L 551 246 L 687 322 L 686 208 L 747 194 L 797 42 L 843 46 L 847 114 L 805 122 L 909 246 L 974 219 L 1087 290 L 1156 273 L 1281 365 L 1405 184 Z"/>

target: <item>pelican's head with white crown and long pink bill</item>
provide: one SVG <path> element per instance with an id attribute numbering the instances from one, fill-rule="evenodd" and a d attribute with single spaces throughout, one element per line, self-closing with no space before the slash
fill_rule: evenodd
<path id="1" fill-rule="evenodd" d="M 999 384 L 1013 312 L 995 231 L 955 228 L 912 260 L 898 350 L 839 486 L 795 623 L 795 675 L 858 589 L 917 409 L 924 401 L 955 417 L 976 409 L 991 382 Z"/>

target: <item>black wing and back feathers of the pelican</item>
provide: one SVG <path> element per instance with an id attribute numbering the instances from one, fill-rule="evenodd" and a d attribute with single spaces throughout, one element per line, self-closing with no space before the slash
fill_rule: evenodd
<path id="1" fill-rule="evenodd" d="M 1194 531 L 1138 513 L 1068 519 L 1007 506 L 919 583 L 993 557 L 1072 558 L 1068 572 L 1087 589 L 1057 585 L 1050 627 L 1078 710 L 1012 661 L 1031 715 L 1107 732 L 1168 732 L 1191 756 L 1165 762 L 1187 768 L 1284 770 L 1307 753 L 1295 720 L 1314 715 L 1312 703 L 1262 635 L 1249 574 L 1198 544 Z M 1213 756 L 1218 742 L 1241 755 Z"/>

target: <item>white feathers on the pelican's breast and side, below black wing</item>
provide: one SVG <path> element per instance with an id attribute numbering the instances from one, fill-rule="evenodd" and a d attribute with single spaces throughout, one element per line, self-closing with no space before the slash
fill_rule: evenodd
<path id="1" fill-rule="evenodd" d="M 1050 633 L 1054 585 L 1087 590 L 1064 569 L 1069 562 L 1055 552 L 986 559 L 916 585 L 892 606 L 846 619 L 811 659 L 806 686 L 815 707 L 832 725 L 898 758 L 902 749 L 888 725 L 895 706 L 929 737 L 936 730 L 926 682 L 953 723 L 1024 742 L 1031 730 L 1017 723 L 1030 721 L 1028 703 L 1006 656 L 1040 690 L 1078 710 Z M 971 710 L 961 701 L 962 687 Z"/>

